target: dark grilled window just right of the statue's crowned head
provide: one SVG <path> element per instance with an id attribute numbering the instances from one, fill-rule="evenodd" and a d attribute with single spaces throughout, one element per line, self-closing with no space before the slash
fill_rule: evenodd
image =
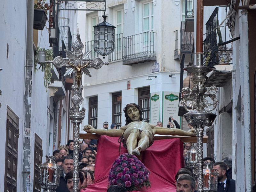
<path id="1" fill-rule="evenodd" d="M 142 111 L 142 121 L 149 123 L 149 103 L 150 101 L 150 87 L 144 87 L 139 89 L 139 99 L 138 104 Z"/>

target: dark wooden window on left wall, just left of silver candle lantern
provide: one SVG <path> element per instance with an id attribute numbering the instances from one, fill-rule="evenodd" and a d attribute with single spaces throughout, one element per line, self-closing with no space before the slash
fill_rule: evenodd
<path id="1" fill-rule="evenodd" d="M 41 192 L 41 185 L 39 183 L 39 165 L 42 164 L 42 139 L 35 133 L 35 154 L 34 154 L 34 192 Z"/>

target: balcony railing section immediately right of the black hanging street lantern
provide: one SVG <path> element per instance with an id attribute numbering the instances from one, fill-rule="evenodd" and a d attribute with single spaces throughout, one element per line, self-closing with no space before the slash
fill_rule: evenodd
<path id="1" fill-rule="evenodd" d="M 115 50 L 109 54 L 109 62 L 123 59 L 123 38 L 124 33 L 115 35 Z"/>

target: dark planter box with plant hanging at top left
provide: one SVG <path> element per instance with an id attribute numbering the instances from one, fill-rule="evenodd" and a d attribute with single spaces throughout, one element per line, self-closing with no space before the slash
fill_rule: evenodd
<path id="1" fill-rule="evenodd" d="M 46 0 L 37 0 L 34 4 L 34 29 L 43 30 L 47 20 L 47 11 L 53 7 L 53 1 L 49 5 Z"/>

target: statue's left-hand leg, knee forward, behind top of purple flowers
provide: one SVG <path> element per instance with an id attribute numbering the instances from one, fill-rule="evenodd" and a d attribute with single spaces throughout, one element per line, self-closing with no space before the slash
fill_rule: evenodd
<path id="1" fill-rule="evenodd" d="M 127 129 L 124 132 L 124 138 L 127 138 L 126 146 L 127 146 L 128 153 L 132 154 L 133 149 L 137 147 L 137 142 L 139 137 L 140 137 L 140 132 L 138 129 Z"/>

